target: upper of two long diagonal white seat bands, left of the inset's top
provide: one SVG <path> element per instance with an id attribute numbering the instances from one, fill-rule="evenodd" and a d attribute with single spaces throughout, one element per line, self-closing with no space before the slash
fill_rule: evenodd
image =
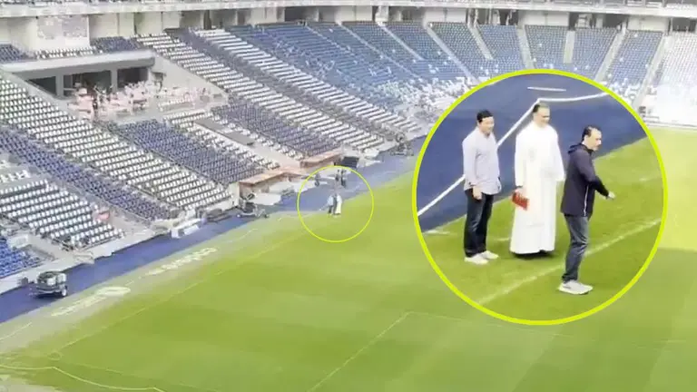
<path id="1" fill-rule="evenodd" d="M 367 103 L 318 78 L 303 73 L 298 68 L 281 62 L 230 32 L 223 30 L 205 30 L 196 32 L 211 44 L 221 46 L 250 73 L 255 79 L 273 83 L 277 90 L 283 89 L 291 98 L 318 106 L 320 110 L 348 123 L 357 123 L 358 127 L 370 132 L 390 136 L 395 131 L 417 128 L 417 125 L 400 119 L 393 113 Z M 392 132 L 390 132 L 392 131 Z"/>

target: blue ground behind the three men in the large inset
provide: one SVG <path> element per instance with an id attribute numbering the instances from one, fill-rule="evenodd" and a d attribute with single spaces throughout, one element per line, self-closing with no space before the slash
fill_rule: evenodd
<path id="1" fill-rule="evenodd" d="M 564 89 L 550 92 L 529 90 L 528 86 Z M 422 210 L 438 195 L 446 191 L 463 175 L 462 140 L 476 125 L 476 113 L 487 109 L 494 113 L 496 137 L 508 132 L 529 110 L 538 98 L 575 98 L 602 93 L 590 84 L 557 75 L 523 75 L 487 86 L 468 97 L 450 113 L 438 127 L 427 151 L 424 153 L 418 174 L 417 208 Z M 551 124 L 559 133 L 564 161 L 566 150 L 580 142 L 585 125 L 595 125 L 603 132 L 603 149 L 607 153 L 646 137 L 643 128 L 632 113 L 609 95 L 583 101 L 549 103 Z M 514 187 L 515 132 L 524 127 L 525 119 L 500 146 L 499 160 L 503 191 L 499 199 L 506 197 Z M 421 230 L 432 230 L 465 215 L 464 188 L 458 185 L 453 191 L 433 204 L 419 216 Z"/>

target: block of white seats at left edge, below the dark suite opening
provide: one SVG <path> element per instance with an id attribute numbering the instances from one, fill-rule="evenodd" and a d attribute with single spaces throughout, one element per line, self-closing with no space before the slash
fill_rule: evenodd
<path id="1" fill-rule="evenodd" d="M 228 199 L 224 191 L 217 189 L 211 181 L 139 149 L 113 133 L 104 132 L 92 122 L 60 111 L 51 103 L 30 95 L 26 89 L 5 79 L 0 79 L 0 122 L 24 133 L 35 143 L 50 147 L 56 155 L 70 157 L 83 167 L 101 171 L 174 207 L 192 210 Z M 51 153 L 37 150 L 31 144 L 18 144 L 16 141 L 8 141 L 7 147 L 7 151 L 15 155 L 26 153 L 26 157 L 34 160 L 37 165 L 44 162 L 36 155 Z M 50 165 L 51 169 L 58 173 L 62 170 L 76 170 L 74 165 L 65 165 L 64 162 L 50 162 Z M 72 179 L 68 178 L 69 181 Z M 118 192 L 114 193 L 110 189 L 113 181 L 107 182 L 111 183 L 107 185 L 103 182 L 101 185 L 105 185 L 109 191 L 95 188 L 93 184 L 81 183 L 80 187 L 106 191 L 107 193 L 103 194 L 106 199 L 117 197 Z M 118 200 L 115 201 L 114 203 L 118 204 Z M 138 203 L 129 201 L 131 206 L 132 202 Z M 162 216 L 163 211 L 159 209 L 144 208 L 150 210 L 142 211 L 148 213 L 149 216 L 146 218 Z"/>

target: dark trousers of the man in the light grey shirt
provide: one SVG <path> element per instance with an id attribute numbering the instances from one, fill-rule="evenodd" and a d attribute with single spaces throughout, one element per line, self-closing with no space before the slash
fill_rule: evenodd
<path id="1" fill-rule="evenodd" d="M 467 196 L 467 216 L 465 219 L 465 255 L 472 257 L 486 250 L 486 229 L 488 228 L 494 196 L 482 193 L 482 199 L 476 200 L 471 189 L 465 191 Z"/>

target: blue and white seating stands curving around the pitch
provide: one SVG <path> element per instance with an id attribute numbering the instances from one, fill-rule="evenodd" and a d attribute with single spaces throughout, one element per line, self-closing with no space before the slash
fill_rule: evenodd
<path id="1" fill-rule="evenodd" d="M 49 14 L 65 3 L 44 2 Z M 688 5 L 666 5 L 677 6 Z M 201 210 L 232 208 L 238 183 L 336 153 L 373 157 L 403 135 L 423 135 L 478 80 L 531 61 L 602 81 L 629 100 L 649 93 L 658 97 L 653 115 L 697 123 L 677 114 L 697 104 L 692 33 L 407 14 L 253 25 L 211 16 L 113 31 L 93 16 L 55 15 L 55 23 L 36 22 L 44 42 L 36 47 L 0 31 L 0 68 L 10 67 L 0 69 L 0 226 L 79 250 L 170 228 Z M 134 54 L 147 61 L 114 71 L 113 59 Z M 103 57 L 114 63 L 99 64 Z M 56 73 L 66 78 L 54 91 L 37 82 L 44 76 L 5 71 L 54 59 L 98 65 L 79 83 Z M 103 211 L 113 215 L 103 220 Z M 50 260 L 3 235 L 0 278 Z"/>

